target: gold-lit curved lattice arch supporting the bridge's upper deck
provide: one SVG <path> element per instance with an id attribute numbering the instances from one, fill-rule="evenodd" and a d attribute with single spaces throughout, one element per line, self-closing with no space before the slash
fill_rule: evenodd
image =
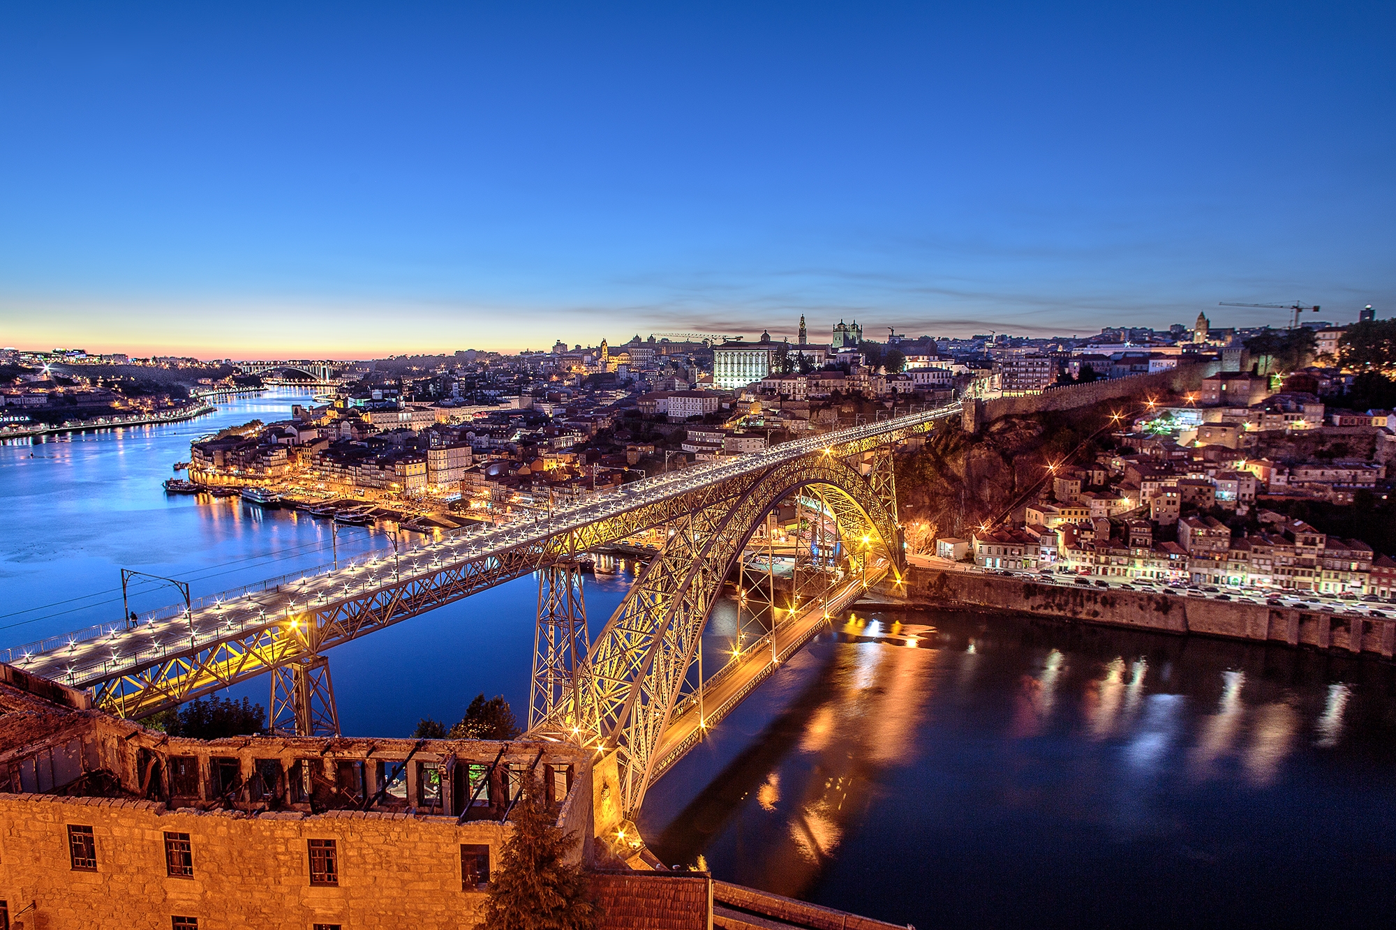
<path id="1" fill-rule="evenodd" d="M 592 644 L 579 676 L 593 716 L 553 721 L 554 730 L 578 726 L 585 737 L 616 750 L 621 806 L 638 811 L 659 744 L 688 674 L 713 600 L 741 559 L 748 539 L 776 503 L 803 487 L 829 501 L 847 539 L 891 556 L 895 515 L 854 469 L 832 454 L 776 465 L 736 501 L 706 507 L 673 526 L 663 550 L 646 566 Z"/>

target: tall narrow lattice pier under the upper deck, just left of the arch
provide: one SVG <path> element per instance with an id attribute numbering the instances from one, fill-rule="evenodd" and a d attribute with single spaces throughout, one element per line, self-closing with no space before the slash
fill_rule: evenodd
<path id="1" fill-rule="evenodd" d="M 586 658 L 589 644 L 581 563 L 568 560 L 549 566 L 537 578 L 529 729 L 556 716 L 560 709 L 574 719 L 581 716 L 577 669 Z"/>

